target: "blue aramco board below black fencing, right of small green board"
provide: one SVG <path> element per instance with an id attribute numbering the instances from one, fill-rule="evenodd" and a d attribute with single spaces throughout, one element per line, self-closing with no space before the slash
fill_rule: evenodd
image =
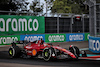
<path id="1" fill-rule="evenodd" d="M 84 41 L 84 33 L 66 34 L 66 41 Z"/>

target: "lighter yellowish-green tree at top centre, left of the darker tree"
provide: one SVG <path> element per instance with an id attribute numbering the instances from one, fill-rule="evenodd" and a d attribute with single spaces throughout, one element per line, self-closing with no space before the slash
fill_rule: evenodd
<path id="1" fill-rule="evenodd" d="M 52 13 L 71 13 L 71 7 L 68 6 L 67 0 L 55 0 L 51 11 Z"/>

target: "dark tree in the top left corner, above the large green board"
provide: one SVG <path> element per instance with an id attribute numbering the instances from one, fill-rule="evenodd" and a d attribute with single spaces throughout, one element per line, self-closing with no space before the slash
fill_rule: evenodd
<path id="1" fill-rule="evenodd" d="M 0 10 L 3 11 L 22 11 L 27 5 L 25 0 L 0 0 Z"/>

